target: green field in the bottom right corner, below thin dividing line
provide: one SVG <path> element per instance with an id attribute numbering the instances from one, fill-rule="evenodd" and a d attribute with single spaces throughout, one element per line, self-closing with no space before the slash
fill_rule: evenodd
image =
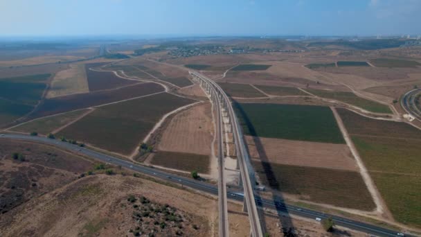
<path id="1" fill-rule="evenodd" d="M 370 172 L 393 218 L 421 227 L 421 176 Z"/>

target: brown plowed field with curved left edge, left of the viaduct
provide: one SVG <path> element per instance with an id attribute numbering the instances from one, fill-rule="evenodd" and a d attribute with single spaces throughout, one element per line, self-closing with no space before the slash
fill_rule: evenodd
<path id="1" fill-rule="evenodd" d="M 211 104 L 197 105 L 174 116 L 163 132 L 159 150 L 210 155 L 212 133 Z"/>

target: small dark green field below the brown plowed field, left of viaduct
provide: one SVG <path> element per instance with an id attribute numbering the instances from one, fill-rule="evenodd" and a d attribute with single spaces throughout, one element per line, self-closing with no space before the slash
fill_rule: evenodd
<path id="1" fill-rule="evenodd" d="M 207 155 L 159 151 L 154 155 L 151 163 L 156 166 L 164 166 L 188 172 L 196 170 L 198 173 L 208 173 L 210 159 Z"/>

